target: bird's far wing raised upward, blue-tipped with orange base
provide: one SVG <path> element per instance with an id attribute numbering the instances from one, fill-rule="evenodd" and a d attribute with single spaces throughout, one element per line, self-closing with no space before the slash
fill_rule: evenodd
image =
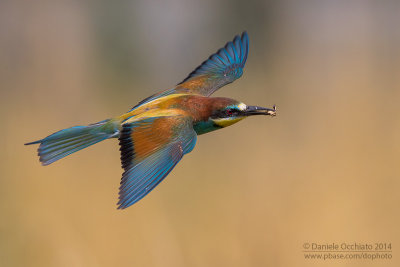
<path id="1" fill-rule="evenodd" d="M 246 32 L 238 35 L 232 42 L 219 49 L 201 63 L 176 87 L 177 92 L 209 96 L 243 74 L 249 53 L 249 37 Z"/>

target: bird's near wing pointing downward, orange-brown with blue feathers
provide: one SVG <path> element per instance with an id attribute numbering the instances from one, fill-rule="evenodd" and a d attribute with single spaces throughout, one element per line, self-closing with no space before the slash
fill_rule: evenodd
<path id="1" fill-rule="evenodd" d="M 119 143 L 125 171 L 118 208 L 125 209 L 150 193 L 192 151 L 196 139 L 191 119 L 183 115 L 124 124 Z"/>

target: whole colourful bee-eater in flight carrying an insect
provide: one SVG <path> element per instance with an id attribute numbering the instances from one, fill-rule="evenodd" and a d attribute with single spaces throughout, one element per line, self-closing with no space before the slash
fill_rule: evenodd
<path id="1" fill-rule="evenodd" d="M 118 138 L 124 173 L 118 208 L 125 209 L 153 190 L 192 151 L 197 135 L 232 125 L 248 116 L 276 115 L 224 97 L 210 97 L 242 76 L 249 51 L 246 32 L 211 55 L 172 89 L 156 93 L 121 116 L 88 126 L 75 126 L 27 143 L 39 144 L 38 155 L 49 165 L 109 138 Z"/>

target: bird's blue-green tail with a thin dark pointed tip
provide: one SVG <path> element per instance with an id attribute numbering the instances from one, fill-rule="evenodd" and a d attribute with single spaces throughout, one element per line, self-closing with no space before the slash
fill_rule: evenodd
<path id="1" fill-rule="evenodd" d="M 40 144 L 38 148 L 39 160 L 43 165 L 49 165 L 76 151 L 105 139 L 116 137 L 118 132 L 118 124 L 106 120 L 88 126 L 64 129 L 25 145 Z"/>

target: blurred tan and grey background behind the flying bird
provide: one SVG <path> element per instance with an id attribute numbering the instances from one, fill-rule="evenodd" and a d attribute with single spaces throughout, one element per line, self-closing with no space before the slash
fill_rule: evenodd
<path id="1" fill-rule="evenodd" d="M 0 266 L 400 266 L 399 1 L 1 1 Z M 116 210 L 117 140 L 34 146 L 171 88 L 247 30 L 218 96 L 278 107 L 199 137 Z M 306 260 L 386 242 L 391 260 Z"/>

